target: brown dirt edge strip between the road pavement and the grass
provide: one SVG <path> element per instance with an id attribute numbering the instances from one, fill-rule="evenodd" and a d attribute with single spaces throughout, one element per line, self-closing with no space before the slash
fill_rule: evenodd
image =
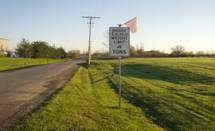
<path id="1" fill-rule="evenodd" d="M 16 113 L 14 113 L 12 116 L 6 119 L 2 123 L 2 125 L 0 125 L 0 131 L 10 130 L 10 129 L 13 130 L 15 126 L 19 122 L 23 121 L 26 116 L 33 113 L 37 109 L 39 109 L 43 104 L 45 104 L 48 100 L 50 100 L 55 94 L 61 91 L 63 87 L 66 85 L 66 83 L 76 74 L 79 68 L 80 66 L 78 64 L 74 64 L 73 69 L 71 69 L 69 73 L 67 72 L 67 70 L 65 70 L 63 73 L 67 72 L 68 74 L 66 75 L 66 79 L 62 83 L 60 83 L 60 85 L 58 85 L 53 90 L 47 90 L 39 94 L 37 98 L 33 99 L 32 101 L 26 104 L 23 104 Z M 53 82 L 53 80 L 48 81 L 48 83 L 46 83 L 47 85 L 44 85 L 44 86 L 48 86 L 49 84 L 51 84 L 51 82 Z"/>

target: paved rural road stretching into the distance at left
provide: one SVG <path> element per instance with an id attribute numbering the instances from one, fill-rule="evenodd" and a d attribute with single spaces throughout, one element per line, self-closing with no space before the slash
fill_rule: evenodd
<path id="1" fill-rule="evenodd" d="M 11 127 L 70 78 L 83 61 L 0 72 L 0 130 Z"/>

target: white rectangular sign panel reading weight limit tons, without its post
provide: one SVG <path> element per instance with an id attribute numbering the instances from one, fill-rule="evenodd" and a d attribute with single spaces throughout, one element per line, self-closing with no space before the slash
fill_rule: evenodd
<path id="1" fill-rule="evenodd" d="M 130 55 L 130 30 L 128 27 L 109 28 L 110 56 Z"/>

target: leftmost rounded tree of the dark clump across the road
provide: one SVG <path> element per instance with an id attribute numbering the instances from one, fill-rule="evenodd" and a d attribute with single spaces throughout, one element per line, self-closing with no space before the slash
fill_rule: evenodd
<path id="1" fill-rule="evenodd" d="M 32 49 L 31 43 L 28 40 L 23 38 L 17 45 L 16 52 L 20 57 L 25 57 L 25 58 L 32 57 L 33 49 Z"/>

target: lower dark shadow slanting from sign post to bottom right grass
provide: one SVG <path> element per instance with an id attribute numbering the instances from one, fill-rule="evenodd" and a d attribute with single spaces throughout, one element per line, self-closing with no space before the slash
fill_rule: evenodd
<path id="1" fill-rule="evenodd" d="M 114 89 L 116 93 L 118 93 L 117 84 L 115 84 L 111 78 L 108 80 L 110 87 Z M 141 93 L 142 91 L 132 88 L 130 85 L 123 84 L 122 97 L 126 99 L 129 103 L 134 106 L 140 107 L 145 116 L 153 121 L 155 124 L 168 129 L 168 130 L 181 130 L 184 122 L 179 123 L 180 118 L 178 120 L 172 120 L 173 117 L 177 117 L 178 113 L 182 113 L 182 111 L 175 110 L 177 112 L 177 116 L 173 116 L 174 114 L 167 114 L 166 112 L 160 111 L 159 107 L 165 106 L 174 111 L 173 105 L 171 103 L 165 102 L 164 99 L 160 99 L 153 94 L 144 95 Z M 132 115 L 132 114 L 131 114 Z M 175 118 L 177 119 L 177 118 Z"/>

